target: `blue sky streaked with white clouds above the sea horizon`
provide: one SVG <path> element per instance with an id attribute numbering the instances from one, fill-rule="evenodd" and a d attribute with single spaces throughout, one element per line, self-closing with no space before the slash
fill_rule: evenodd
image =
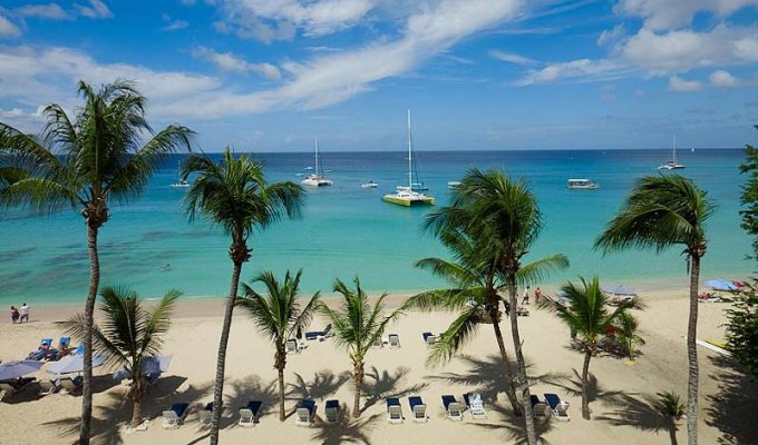
<path id="1" fill-rule="evenodd" d="M 0 121 L 138 82 L 206 151 L 758 144 L 758 0 L 0 0 Z"/>

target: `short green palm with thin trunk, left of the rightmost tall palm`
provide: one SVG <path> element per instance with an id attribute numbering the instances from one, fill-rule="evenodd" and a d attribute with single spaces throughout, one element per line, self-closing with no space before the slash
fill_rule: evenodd
<path id="1" fill-rule="evenodd" d="M 581 277 L 580 277 L 581 278 Z M 608 297 L 600 289 L 597 277 L 590 283 L 582 280 L 582 288 L 568 283 L 561 290 L 568 300 L 567 306 L 552 301 L 552 308 L 557 317 L 576 333 L 576 340 L 584 350 L 584 366 L 582 367 L 582 416 L 590 418 L 589 374 L 590 359 L 597 355 L 597 342 L 605 336 L 609 327 L 619 320 L 622 314 L 634 307 L 634 303 L 622 303 L 613 312 L 609 313 Z"/>

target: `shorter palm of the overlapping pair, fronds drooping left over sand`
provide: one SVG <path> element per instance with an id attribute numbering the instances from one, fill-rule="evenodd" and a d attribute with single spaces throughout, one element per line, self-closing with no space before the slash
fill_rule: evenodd
<path id="1" fill-rule="evenodd" d="M 497 346 L 503 359 L 503 370 L 506 380 L 505 394 L 511 402 L 514 413 L 522 416 L 523 405 L 516 397 L 511 359 L 505 349 L 505 342 L 499 326 L 498 289 L 505 287 L 502 274 L 497 273 L 495 260 L 488 257 L 486 248 L 476 245 L 465 228 L 446 227 L 437 234 L 443 244 L 454 254 L 455 261 L 440 258 L 424 258 L 416 263 L 417 267 L 430 269 L 435 275 L 446 278 L 454 288 L 435 289 L 418 294 L 408 299 L 406 307 L 422 310 L 446 309 L 458 310 L 458 317 L 450 324 L 439 339 L 433 345 L 428 358 L 429 364 L 437 364 L 451 358 L 468 338 L 475 333 L 477 323 L 485 315 L 492 322 Z M 554 263 L 542 263 L 542 266 L 562 267 L 563 258 Z M 534 268 L 542 273 L 535 265 Z M 528 270 L 528 269 L 527 269 Z"/>

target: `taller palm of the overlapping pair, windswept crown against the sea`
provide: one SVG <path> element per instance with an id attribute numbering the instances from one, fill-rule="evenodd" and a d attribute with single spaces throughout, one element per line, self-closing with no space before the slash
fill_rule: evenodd
<path id="1" fill-rule="evenodd" d="M 450 206 L 429 215 L 426 227 L 435 233 L 465 228 L 476 245 L 486 249 L 495 270 L 503 276 L 513 308 L 517 307 L 519 276 L 528 278 L 521 283 L 526 284 L 541 278 L 540 270 L 568 264 L 563 255 L 555 255 L 534 261 L 528 268 L 522 265 L 522 259 L 542 230 L 542 215 L 526 182 L 514 181 L 498 170 L 474 168 L 467 171 L 453 194 Z M 523 406 L 526 439 L 529 445 L 536 445 L 518 317 L 511 317 L 511 334 L 518 366 L 514 380 Z"/>

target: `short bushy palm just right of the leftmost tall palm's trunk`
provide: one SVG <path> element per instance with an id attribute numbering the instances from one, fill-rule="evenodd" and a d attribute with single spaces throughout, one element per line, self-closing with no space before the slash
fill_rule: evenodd
<path id="1" fill-rule="evenodd" d="M 143 421 L 142 399 L 146 389 L 143 364 L 147 357 L 161 353 L 162 336 L 168 332 L 174 303 L 179 295 L 178 290 L 169 290 L 149 310 L 139 295 L 128 287 L 105 287 L 100 293 L 104 317 L 99 325 L 93 326 L 93 344 L 105 355 L 109 367 L 123 367 L 132 375 L 133 428 Z M 81 314 L 64 322 L 64 326 L 68 334 L 79 339 L 87 332 Z"/>

